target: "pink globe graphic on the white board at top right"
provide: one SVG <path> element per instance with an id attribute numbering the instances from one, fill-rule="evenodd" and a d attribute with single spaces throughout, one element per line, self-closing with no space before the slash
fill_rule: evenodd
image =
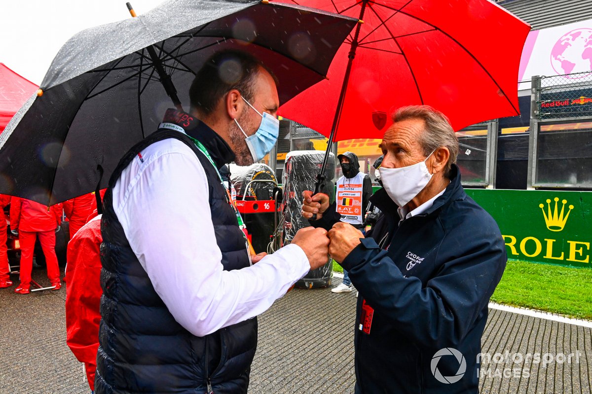
<path id="1" fill-rule="evenodd" d="M 551 65 L 559 75 L 592 70 L 592 29 L 572 30 L 559 38 L 551 50 Z"/>

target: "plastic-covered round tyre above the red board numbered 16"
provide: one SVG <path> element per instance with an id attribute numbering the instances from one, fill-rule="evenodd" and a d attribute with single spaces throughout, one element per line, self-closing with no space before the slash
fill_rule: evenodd
<path id="1" fill-rule="evenodd" d="M 262 163 L 247 167 L 230 164 L 229 169 L 238 196 L 244 196 L 245 200 L 272 200 L 277 180 L 271 167 Z"/>

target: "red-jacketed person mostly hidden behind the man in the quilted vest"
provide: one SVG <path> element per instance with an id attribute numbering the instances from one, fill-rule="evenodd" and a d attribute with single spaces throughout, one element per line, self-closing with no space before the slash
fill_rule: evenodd
<path id="1" fill-rule="evenodd" d="M 94 216 L 70 240 L 67 249 L 66 343 L 84 363 L 91 391 L 95 389 L 96 351 L 101 313 L 101 215 Z"/>

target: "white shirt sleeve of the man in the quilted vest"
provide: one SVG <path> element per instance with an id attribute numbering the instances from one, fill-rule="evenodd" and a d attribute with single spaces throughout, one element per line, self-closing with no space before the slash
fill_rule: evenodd
<path id="1" fill-rule="evenodd" d="M 166 139 L 141 151 L 113 188 L 113 208 L 141 266 L 170 313 L 195 336 L 255 317 L 310 269 L 288 245 L 255 265 L 223 271 L 195 153 Z"/>

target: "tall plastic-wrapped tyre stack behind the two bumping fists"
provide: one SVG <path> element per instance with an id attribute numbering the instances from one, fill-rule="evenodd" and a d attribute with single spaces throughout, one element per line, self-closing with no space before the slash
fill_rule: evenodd
<path id="1" fill-rule="evenodd" d="M 284 163 L 284 245 L 288 245 L 296 232 L 310 226 L 308 220 L 302 217 L 302 193 L 314 190 L 317 174 L 323 164 L 323 151 L 293 151 L 286 155 Z M 335 174 L 335 157 L 330 154 L 325 169 L 326 183 L 321 192 L 329 196 L 333 202 L 335 191 L 333 178 Z M 333 261 L 327 258 L 327 263 L 320 268 L 309 271 L 296 282 L 299 288 L 319 288 L 331 285 Z"/>

